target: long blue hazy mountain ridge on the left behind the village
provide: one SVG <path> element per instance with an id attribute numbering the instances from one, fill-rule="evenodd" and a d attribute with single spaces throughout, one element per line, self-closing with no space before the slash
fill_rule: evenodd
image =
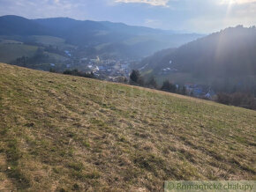
<path id="1" fill-rule="evenodd" d="M 27 19 L 18 16 L 0 17 L 0 35 L 7 35 L 9 38 L 10 35 L 16 35 L 12 37 L 16 39 L 17 36 L 24 39 L 29 35 L 48 35 L 85 48 L 108 43 L 109 48 L 99 50 L 99 53 L 104 52 L 117 57 L 124 57 L 127 53 L 130 57 L 136 58 L 153 54 L 163 48 L 178 47 L 202 37 L 196 33 L 182 34 L 108 21 L 80 21 L 72 18 Z M 19 38 L 19 41 L 20 39 L 22 38 Z M 135 52 L 134 48 L 141 45 L 143 48 Z"/>

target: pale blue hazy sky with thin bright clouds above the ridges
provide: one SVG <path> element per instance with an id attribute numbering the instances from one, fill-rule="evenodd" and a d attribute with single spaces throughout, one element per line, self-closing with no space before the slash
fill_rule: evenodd
<path id="1" fill-rule="evenodd" d="M 256 25 L 256 0 L 0 0 L 0 15 L 69 17 L 211 33 Z"/>

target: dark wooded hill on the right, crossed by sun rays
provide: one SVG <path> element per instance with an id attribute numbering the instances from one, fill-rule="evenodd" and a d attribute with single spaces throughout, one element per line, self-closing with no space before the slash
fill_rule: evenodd
<path id="1" fill-rule="evenodd" d="M 255 53 L 255 27 L 237 26 L 147 57 L 140 66 L 147 65 L 144 71 L 160 78 L 183 83 L 252 87 L 256 85 Z M 169 72 L 162 74 L 166 68 Z"/>

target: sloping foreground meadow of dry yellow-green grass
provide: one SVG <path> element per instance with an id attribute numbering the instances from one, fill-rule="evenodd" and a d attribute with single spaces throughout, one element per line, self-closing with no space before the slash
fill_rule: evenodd
<path id="1" fill-rule="evenodd" d="M 256 112 L 0 64 L 0 190 L 255 180 Z"/>

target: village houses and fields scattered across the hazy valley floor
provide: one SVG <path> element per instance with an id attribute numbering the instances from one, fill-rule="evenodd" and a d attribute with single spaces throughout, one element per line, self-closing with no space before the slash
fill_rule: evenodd
<path id="1" fill-rule="evenodd" d="M 61 72 L 64 74 L 72 74 L 72 70 L 77 70 L 80 74 L 92 74 L 94 78 L 127 84 L 130 82 L 130 75 L 132 70 L 136 69 L 136 65 L 141 61 L 140 59 L 117 58 L 102 55 L 90 55 L 86 52 L 79 53 L 78 48 L 55 48 L 53 46 L 38 48 L 33 57 L 20 57 L 15 61 L 16 65 L 29 67 L 35 70 L 49 70 L 51 72 Z M 51 55 L 61 55 L 53 57 Z M 171 61 L 169 61 L 171 64 Z M 139 68 L 144 70 L 147 65 Z M 158 75 L 168 75 L 177 73 L 178 70 L 171 65 L 160 70 Z M 147 85 L 147 80 L 144 79 L 144 85 L 151 88 L 161 88 L 161 83 L 152 87 Z M 158 82 L 159 83 L 159 82 Z M 192 97 L 213 100 L 215 91 L 208 85 L 197 85 L 192 83 L 185 83 L 184 85 L 177 85 L 175 82 L 170 82 L 175 85 L 175 92 L 183 92 L 183 94 Z M 183 91 L 181 91 L 183 90 Z M 172 92 L 170 90 L 165 90 Z"/>

